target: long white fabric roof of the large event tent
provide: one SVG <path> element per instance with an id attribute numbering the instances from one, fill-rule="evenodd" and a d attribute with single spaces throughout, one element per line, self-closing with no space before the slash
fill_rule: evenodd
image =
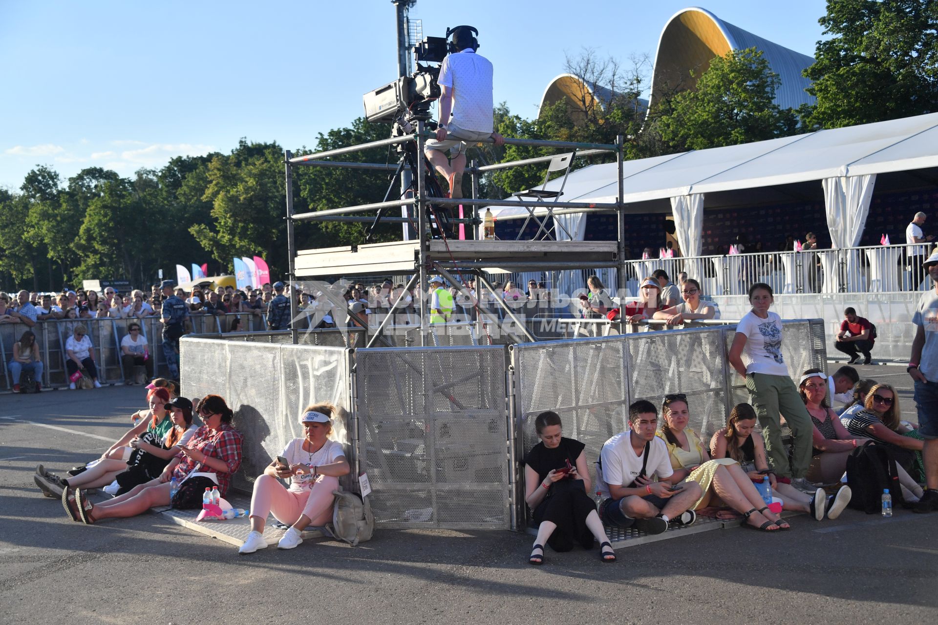
<path id="1" fill-rule="evenodd" d="M 938 113 L 626 161 L 624 201 L 938 167 Z M 548 189 L 560 188 L 561 179 Z M 572 171 L 564 201 L 614 202 L 615 164 Z M 495 209 L 495 215 L 524 209 Z M 508 211 L 506 213 L 505 211 Z"/>

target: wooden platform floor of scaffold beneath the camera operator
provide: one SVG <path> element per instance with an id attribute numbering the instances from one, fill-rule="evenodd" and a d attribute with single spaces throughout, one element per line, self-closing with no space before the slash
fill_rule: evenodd
<path id="1" fill-rule="evenodd" d="M 414 271 L 419 243 L 397 241 L 366 246 L 301 249 L 296 254 L 297 277 L 325 275 L 406 274 Z M 431 260 L 484 260 L 492 268 L 510 267 L 511 262 L 576 260 L 613 262 L 615 241 L 443 241 L 430 242 Z M 509 269 L 510 271 L 510 269 Z"/>

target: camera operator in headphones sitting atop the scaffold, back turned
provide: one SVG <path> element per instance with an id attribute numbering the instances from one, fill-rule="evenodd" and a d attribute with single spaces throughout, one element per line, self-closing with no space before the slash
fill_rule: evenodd
<path id="1" fill-rule="evenodd" d="M 502 145 L 505 140 L 492 131 L 492 62 L 476 53 L 478 41 L 469 26 L 458 26 L 452 36 L 456 52 L 443 59 L 438 79 L 442 89 L 440 126 L 436 140 L 424 146 L 424 154 L 446 177 L 449 197 L 461 198 L 469 143 L 491 138 L 495 145 Z M 451 161 L 446 158 L 446 150 Z"/>

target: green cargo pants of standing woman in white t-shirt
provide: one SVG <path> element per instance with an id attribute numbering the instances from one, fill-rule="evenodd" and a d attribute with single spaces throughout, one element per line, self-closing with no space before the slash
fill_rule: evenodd
<path id="1" fill-rule="evenodd" d="M 752 395 L 752 407 L 756 409 L 759 424 L 763 428 L 765 453 L 772 469 L 781 477 L 805 477 L 814 446 L 813 425 L 794 382 L 788 376 L 750 373 L 746 376 L 746 388 Z M 792 430 L 791 468 L 785 455 L 785 446 L 781 442 L 779 413 L 785 415 L 785 422 Z"/>

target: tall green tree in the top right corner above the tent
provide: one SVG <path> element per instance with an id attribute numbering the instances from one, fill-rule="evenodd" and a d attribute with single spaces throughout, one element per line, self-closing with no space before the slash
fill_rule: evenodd
<path id="1" fill-rule="evenodd" d="M 827 0 L 804 74 L 812 127 L 870 124 L 938 111 L 938 2 Z"/>

